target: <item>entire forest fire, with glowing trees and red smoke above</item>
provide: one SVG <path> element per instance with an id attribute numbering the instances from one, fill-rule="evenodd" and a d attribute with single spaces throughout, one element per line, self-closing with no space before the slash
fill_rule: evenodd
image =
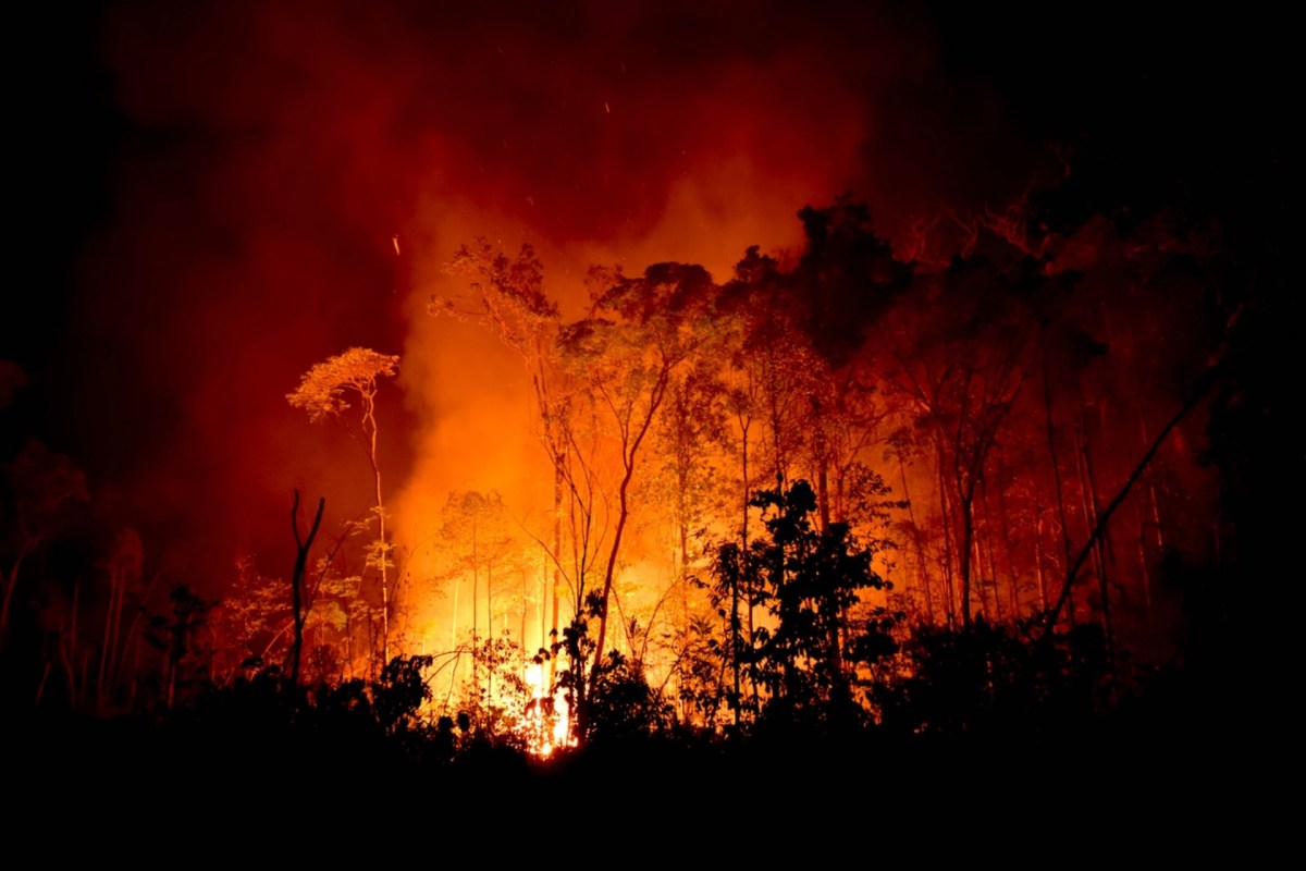
<path id="1" fill-rule="evenodd" d="M 836 5 L 108 4 L 5 700 L 447 770 L 1241 680 L 1281 230 L 1096 56 Z"/>

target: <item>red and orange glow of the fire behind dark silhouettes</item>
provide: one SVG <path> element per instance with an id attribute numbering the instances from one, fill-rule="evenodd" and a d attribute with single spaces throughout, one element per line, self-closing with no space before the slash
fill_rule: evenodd
<path id="1" fill-rule="evenodd" d="M 953 87 L 929 22 L 878 4 L 837 29 L 786 4 L 411 5 L 326 3 L 307 31 L 273 4 L 104 16 L 103 81 L 148 135 L 124 142 L 71 334 L 112 337 L 89 353 L 140 381 L 88 380 L 88 419 L 175 422 L 131 440 L 106 501 L 146 552 L 201 542 L 175 560 L 231 599 L 225 661 L 276 662 L 295 635 L 291 492 L 326 504 L 298 627 L 315 678 L 434 656 L 432 712 L 538 755 L 588 713 L 563 675 L 610 653 L 680 723 L 730 720 L 725 627 L 774 618 L 714 599 L 714 558 L 765 534 L 759 488 L 810 481 L 824 528 L 875 542 L 892 589 L 850 622 L 1025 619 L 1079 584 L 1075 550 L 1228 320 L 1170 276 L 1192 253 L 1173 222 L 1049 230 L 1025 196 L 1041 146 Z M 178 148 L 163 171 L 155 140 Z M 451 270 L 478 239 L 538 255 L 555 306 L 530 341 L 505 341 L 485 276 Z M 707 274 L 680 293 L 690 265 Z M 465 304 L 432 316 L 434 298 Z M 368 388 L 366 462 L 285 402 L 343 347 L 402 360 Z M 1183 430 L 1080 560 L 1096 584 L 1067 597 L 1072 623 L 1152 632 L 1161 556 L 1215 547 L 1190 531 L 1216 484 L 1200 422 Z"/>

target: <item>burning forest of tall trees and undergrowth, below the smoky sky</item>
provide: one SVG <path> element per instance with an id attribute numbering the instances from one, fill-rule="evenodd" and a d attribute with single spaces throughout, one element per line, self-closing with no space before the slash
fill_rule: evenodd
<path id="1" fill-rule="evenodd" d="M 323 504 L 295 492 L 293 571 L 238 563 L 215 599 L 151 589 L 140 537 L 94 529 L 72 460 L 29 441 L 10 705 L 166 723 L 268 684 L 451 759 L 1145 716 L 1226 642 L 1259 315 L 1211 227 L 1072 223 L 1059 193 L 976 217 L 947 262 L 897 259 L 862 204 L 806 208 L 789 261 L 596 268 L 575 321 L 529 244 L 464 245 L 430 312 L 521 356 L 551 522 L 449 494 L 426 575 L 376 458 L 398 356 L 351 349 L 287 396 L 355 426 L 370 516 L 315 551 Z"/>

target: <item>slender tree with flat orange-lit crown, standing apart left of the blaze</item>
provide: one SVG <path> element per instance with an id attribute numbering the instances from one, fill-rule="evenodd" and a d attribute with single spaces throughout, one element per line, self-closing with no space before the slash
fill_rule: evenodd
<path id="1" fill-rule="evenodd" d="M 376 504 L 376 543 L 368 554 L 368 564 L 380 572 L 381 578 L 381 661 L 390 659 L 390 586 L 389 586 L 389 545 L 385 541 L 385 503 L 381 499 L 381 469 L 376 460 L 376 390 L 377 379 L 394 377 L 400 358 L 379 354 L 367 347 L 350 347 L 313 366 L 303 375 L 299 388 L 287 393 L 286 400 L 296 409 L 308 413 L 313 423 L 333 418 L 343 420 L 342 413 L 350 407 L 345 396 L 358 394 L 362 404 L 359 428 L 347 427 L 350 436 L 363 445 L 367 461 L 372 469 Z"/>

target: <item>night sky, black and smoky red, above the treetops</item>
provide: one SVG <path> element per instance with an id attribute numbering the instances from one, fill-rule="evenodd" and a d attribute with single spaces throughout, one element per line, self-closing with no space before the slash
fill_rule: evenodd
<path id="1" fill-rule="evenodd" d="M 357 448 L 285 401 L 313 362 L 351 345 L 405 356 L 383 407 L 394 481 L 415 432 L 486 407 L 460 398 L 464 350 L 431 349 L 423 313 L 439 264 L 477 235 L 534 243 L 564 300 L 592 262 L 699 261 L 724 278 L 748 244 L 797 244 L 795 213 L 844 191 L 889 239 L 913 218 L 1002 206 L 1058 171 L 1049 142 L 1106 155 L 1140 202 L 1213 201 L 1247 232 L 1288 212 L 1288 29 L 1252 13 L 18 14 L 0 359 L 30 383 L 0 410 L 4 453 L 31 435 L 68 454 L 97 512 L 142 529 L 158 559 L 178 548 L 210 589 L 236 551 L 289 562 L 291 488 L 340 517 L 366 507 L 346 495 Z"/>

